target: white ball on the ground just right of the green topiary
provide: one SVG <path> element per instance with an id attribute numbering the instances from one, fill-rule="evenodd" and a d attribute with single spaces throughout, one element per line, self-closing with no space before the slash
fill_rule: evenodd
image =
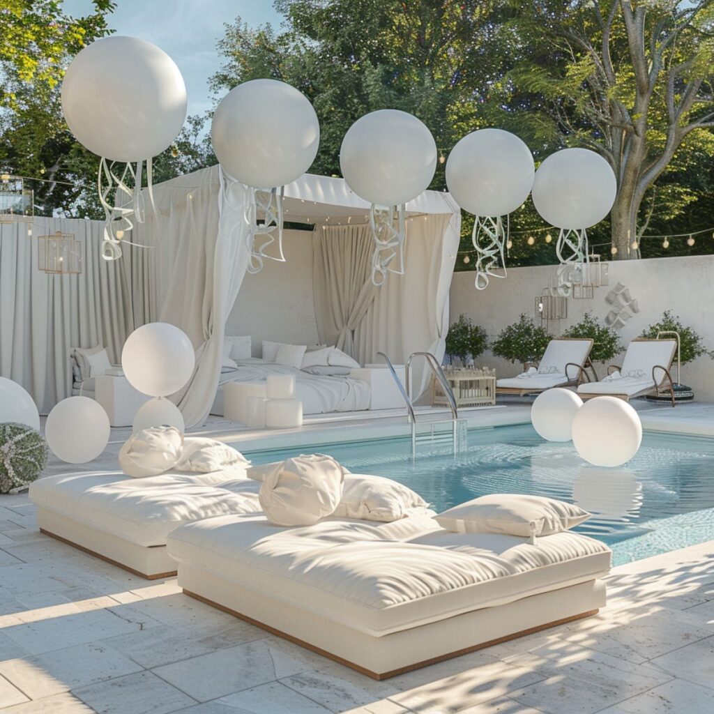
<path id="1" fill-rule="evenodd" d="M 89 397 L 69 397 L 47 417 L 45 438 L 54 455 L 67 463 L 93 461 L 109 441 L 109 416 Z"/>

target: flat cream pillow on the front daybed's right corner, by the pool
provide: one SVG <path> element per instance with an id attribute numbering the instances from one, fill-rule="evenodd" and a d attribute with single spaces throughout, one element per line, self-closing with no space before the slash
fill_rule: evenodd
<path id="1" fill-rule="evenodd" d="M 590 518 L 590 513 L 554 498 L 492 493 L 449 508 L 434 518 L 439 526 L 454 533 L 501 533 L 535 538 L 568 531 Z"/>

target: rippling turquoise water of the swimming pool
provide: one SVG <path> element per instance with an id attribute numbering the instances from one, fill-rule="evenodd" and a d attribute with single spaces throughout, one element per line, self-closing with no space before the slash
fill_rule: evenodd
<path id="1" fill-rule="evenodd" d="M 313 451 L 401 481 L 436 511 L 486 493 L 578 503 L 593 518 L 575 530 L 610 545 L 615 565 L 714 538 L 713 438 L 646 432 L 638 455 L 611 469 L 588 465 L 572 443 L 543 441 L 530 425 L 471 430 L 456 458 L 421 445 L 413 462 L 409 438 L 244 453 L 267 463 Z"/>

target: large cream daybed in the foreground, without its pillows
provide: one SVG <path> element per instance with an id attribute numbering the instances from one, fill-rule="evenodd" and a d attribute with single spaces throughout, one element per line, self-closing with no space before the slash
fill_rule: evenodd
<path id="1" fill-rule="evenodd" d="M 376 679 L 591 615 L 610 568 L 606 545 L 572 531 L 532 545 L 426 514 L 292 528 L 219 516 L 167 548 L 187 595 Z"/>

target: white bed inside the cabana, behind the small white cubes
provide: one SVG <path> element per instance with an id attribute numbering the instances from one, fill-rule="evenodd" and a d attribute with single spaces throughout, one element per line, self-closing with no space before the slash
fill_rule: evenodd
<path id="1" fill-rule="evenodd" d="M 369 408 L 369 384 L 347 375 L 317 376 L 258 358 L 237 361 L 236 364 L 236 369 L 224 367 L 221 371 L 211 414 L 223 416 L 223 386 L 228 382 L 262 382 L 271 374 L 295 376 L 296 398 L 303 403 L 303 414 L 362 411 Z"/>

